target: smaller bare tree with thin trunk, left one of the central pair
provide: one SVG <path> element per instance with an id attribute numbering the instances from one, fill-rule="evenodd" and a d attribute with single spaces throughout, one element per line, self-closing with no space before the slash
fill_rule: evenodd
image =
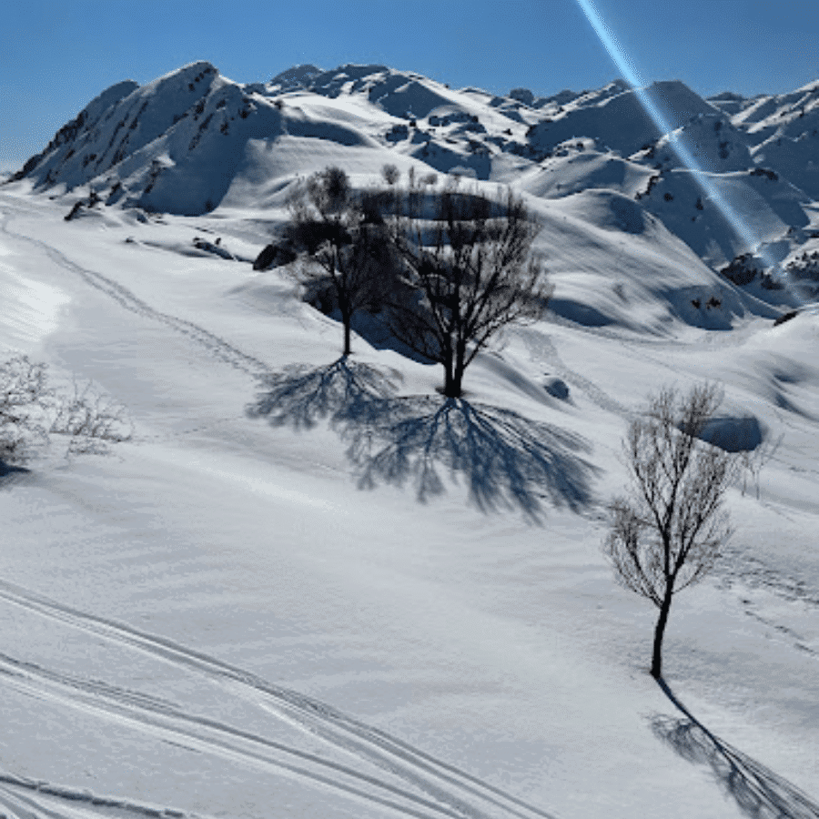
<path id="1" fill-rule="evenodd" d="M 308 178 L 288 202 L 288 243 L 300 252 L 296 276 L 304 284 L 327 280 L 350 353 L 353 315 L 376 307 L 389 288 L 390 244 L 373 197 L 355 197 L 347 174 L 327 167 Z"/>

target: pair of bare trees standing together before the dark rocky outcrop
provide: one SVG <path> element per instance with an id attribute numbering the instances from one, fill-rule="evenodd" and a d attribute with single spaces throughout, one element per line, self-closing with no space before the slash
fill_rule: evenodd
<path id="1" fill-rule="evenodd" d="M 385 186 L 356 195 L 347 174 L 328 167 L 289 202 L 286 230 L 304 283 L 329 282 L 350 353 L 351 319 L 379 312 L 396 339 L 444 368 L 443 393 L 460 397 L 464 371 L 500 329 L 538 319 L 551 286 L 531 253 L 538 228 L 511 192 L 486 197 L 442 189 L 437 177 L 410 172 L 399 186 L 394 166 Z"/>

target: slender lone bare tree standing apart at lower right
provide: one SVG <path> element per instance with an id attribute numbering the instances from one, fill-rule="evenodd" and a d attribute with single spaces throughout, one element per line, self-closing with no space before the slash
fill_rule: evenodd
<path id="1" fill-rule="evenodd" d="M 682 397 L 662 389 L 623 441 L 632 490 L 612 501 L 603 551 L 617 580 L 660 610 L 651 671 L 658 680 L 672 596 L 713 568 L 731 533 L 723 497 L 736 456 L 699 439 L 721 399 L 708 384 Z"/>

